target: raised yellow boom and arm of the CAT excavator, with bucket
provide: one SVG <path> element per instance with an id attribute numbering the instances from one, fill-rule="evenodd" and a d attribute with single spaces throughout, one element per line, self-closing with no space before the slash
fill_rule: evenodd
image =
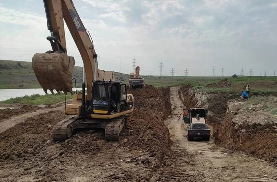
<path id="1" fill-rule="evenodd" d="M 87 100 L 91 100 L 93 80 L 114 80 L 110 71 L 98 70 L 97 54 L 89 32 L 85 29 L 72 0 L 43 0 L 47 18 L 47 28 L 51 36 L 52 51 L 36 53 L 32 64 L 38 82 L 47 94 L 55 89 L 58 93 L 72 92 L 72 72 L 75 65 L 73 57 L 67 55 L 64 23 L 80 52 L 87 79 Z M 83 80 L 83 82 L 85 82 Z"/>

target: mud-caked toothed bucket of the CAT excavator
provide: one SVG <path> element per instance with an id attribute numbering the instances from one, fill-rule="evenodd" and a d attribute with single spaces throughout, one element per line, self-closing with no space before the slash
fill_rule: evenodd
<path id="1" fill-rule="evenodd" d="M 32 58 L 33 70 L 42 89 L 47 94 L 56 90 L 66 95 L 72 91 L 72 72 L 75 65 L 74 57 L 65 53 L 36 53 Z"/>

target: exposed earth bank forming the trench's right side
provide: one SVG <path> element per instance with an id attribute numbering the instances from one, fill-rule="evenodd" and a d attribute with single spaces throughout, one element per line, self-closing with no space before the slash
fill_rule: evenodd
<path id="1" fill-rule="evenodd" d="M 252 103 L 236 95 L 193 92 L 181 86 L 184 106 L 207 107 L 207 123 L 212 127 L 214 143 L 234 152 L 244 152 L 277 165 L 277 116 L 266 111 L 277 105 L 277 98 L 265 96 Z M 271 111 L 275 112 L 275 109 Z"/>

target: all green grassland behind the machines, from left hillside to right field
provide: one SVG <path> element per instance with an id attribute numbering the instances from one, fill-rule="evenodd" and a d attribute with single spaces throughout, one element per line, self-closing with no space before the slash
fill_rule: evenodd
<path id="1" fill-rule="evenodd" d="M 82 85 L 82 67 L 75 66 L 72 77 L 76 79 L 77 87 Z M 115 79 L 128 83 L 128 75 L 114 72 Z M 244 85 L 250 84 L 250 95 L 275 95 L 277 96 L 277 76 L 275 77 L 184 77 L 184 76 L 143 76 L 145 83 L 155 87 L 179 86 L 191 84 L 193 89 L 209 93 L 225 92 L 230 94 L 241 94 Z M 227 78 L 231 82 L 231 87 L 226 88 L 208 88 L 207 84 L 217 83 Z M 75 84 L 74 84 L 75 87 Z M 32 69 L 31 62 L 26 61 L 7 61 L 0 60 L 0 89 L 8 88 L 41 88 Z M 68 95 L 68 99 L 72 98 Z M 20 103 L 20 104 L 55 104 L 62 102 L 65 95 L 46 95 L 46 96 L 25 96 L 23 98 L 12 98 L 0 103 Z M 29 102 L 30 101 L 30 102 Z"/>

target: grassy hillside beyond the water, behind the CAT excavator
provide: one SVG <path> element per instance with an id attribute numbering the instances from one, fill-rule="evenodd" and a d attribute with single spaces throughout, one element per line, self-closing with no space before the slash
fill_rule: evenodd
<path id="1" fill-rule="evenodd" d="M 76 79 L 77 87 L 82 86 L 83 67 L 75 66 L 72 78 Z M 114 72 L 115 79 L 128 83 L 128 75 Z M 74 84 L 75 87 L 75 84 Z M 28 61 L 0 60 L 0 89 L 8 88 L 41 88 Z"/>

